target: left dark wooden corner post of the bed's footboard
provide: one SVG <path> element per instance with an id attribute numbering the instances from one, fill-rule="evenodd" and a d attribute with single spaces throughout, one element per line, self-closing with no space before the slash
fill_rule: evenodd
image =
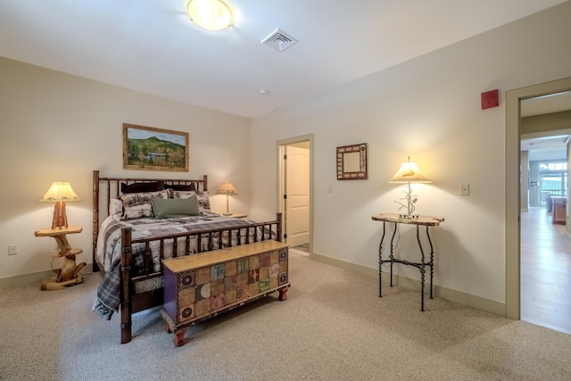
<path id="1" fill-rule="evenodd" d="M 131 341 L 131 228 L 121 228 L 121 344 Z"/>

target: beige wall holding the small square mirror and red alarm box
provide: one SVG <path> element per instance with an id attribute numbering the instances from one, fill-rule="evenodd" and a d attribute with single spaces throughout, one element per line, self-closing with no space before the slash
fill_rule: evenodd
<path id="1" fill-rule="evenodd" d="M 446 218 L 434 229 L 434 283 L 505 303 L 504 94 L 571 76 L 569 20 L 567 2 L 253 120 L 252 181 L 275 173 L 261 160 L 275 155 L 273 142 L 314 133 L 313 249 L 376 269 L 381 225 L 370 216 L 397 211 L 401 189 L 387 180 L 410 155 L 434 181 L 418 186 L 418 212 Z M 480 94 L 494 88 L 500 106 L 481 110 Z M 368 180 L 335 180 L 335 147 L 358 143 L 368 143 Z M 461 183 L 469 196 L 459 195 Z M 252 189 L 252 201 L 252 211 L 274 208 L 273 184 Z M 415 244 L 401 228 L 402 253 Z M 397 271 L 418 279 L 416 269 Z"/>

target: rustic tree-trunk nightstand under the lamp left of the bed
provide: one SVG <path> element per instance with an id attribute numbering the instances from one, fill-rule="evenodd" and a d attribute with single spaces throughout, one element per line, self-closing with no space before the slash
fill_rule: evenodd
<path id="1" fill-rule="evenodd" d="M 36 230 L 36 236 L 53 237 L 57 243 L 58 250 L 57 253 L 52 255 L 52 270 L 55 273 L 55 277 L 48 277 L 44 280 L 40 287 L 42 290 L 61 290 L 67 286 L 83 283 L 83 277 L 79 271 L 83 269 L 86 262 L 81 262 L 78 265 L 75 263 L 76 256 L 82 253 L 83 250 L 71 248 L 66 236 L 68 234 L 81 233 L 81 230 L 82 228 L 80 227 L 41 228 Z M 56 258 L 63 258 L 62 267 L 60 269 L 54 269 L 53 264 Z"/>

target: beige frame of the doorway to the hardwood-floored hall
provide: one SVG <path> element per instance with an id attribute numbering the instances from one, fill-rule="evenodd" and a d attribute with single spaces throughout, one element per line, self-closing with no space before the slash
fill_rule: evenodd
<path id="1" fill-rule="evenodd" d="M 569 91 L 571 78 L 558 79 L 506 92 L 506 317 L 521 318 L 521 195 L 520 195 L 520 101 L 535 96 Z M 517 195 L 514 197 L 514 195 Z"/>

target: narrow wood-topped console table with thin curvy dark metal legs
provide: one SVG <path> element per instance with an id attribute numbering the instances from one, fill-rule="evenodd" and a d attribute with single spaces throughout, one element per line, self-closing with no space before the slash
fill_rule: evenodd
<path id="1" fill-rule="evenodd" d="M 443 217 L 433 217 L 433 216 L 402 216 L 400 214 L 377 214 L 371 217 L 375 221 L 383 221 L 383 236 L 381 237 L 381 243 L 378 246 L 378 296 L 382 297 L 382 289 L 381 289 L 381 268 L 383 267 L 383 263 L 390 263 L 391 264 L 391 286 L 393 286 L 393 264 L 394 263 L 401 263 L 407 266 L 414 266 L 420 271 L 420 311 L 425 311 L 425 273 L 426 267 L 430 268 L 430 299 L 433 298 L 432 296 L 432 281 L 434 277 L 434 248 L 432 244 L 432 240 L 430 239 L 430 234 L 428 232 L 428 228 L 430 227 L 437 227 L 440 225 L 441 222 L 444 221 Z M 394 231 L 393 236 L 391 237 L 391 244 L 390 244 L 390 252 L 388 259 L 383 259 L 383 244 L 385 241 L 385 232 L 386 232 L 386 224 L 393 223 L 394 224 Z M 399 224 L 406 224 L 406 225 L 414 225 L 417 228 L 417 241 L 418 241 L 418 248 L 420 249 L 420 261 L 419 262 L 411 262 L 411 261 L 404 261 L 394 257 L 395 252 L 395 242 L 394 237 L 396 236 L 396 232 L 398 230 Z M 430 254 L 428 257 L 430 258 L 427 261 L 427 256 L 425 254 L 425 248 L 423 248 L 422 243 L 420 242 L 420 227 L 426 227 L 426 238 L 428 239 L 428 244 L 430 245 Z"/>

